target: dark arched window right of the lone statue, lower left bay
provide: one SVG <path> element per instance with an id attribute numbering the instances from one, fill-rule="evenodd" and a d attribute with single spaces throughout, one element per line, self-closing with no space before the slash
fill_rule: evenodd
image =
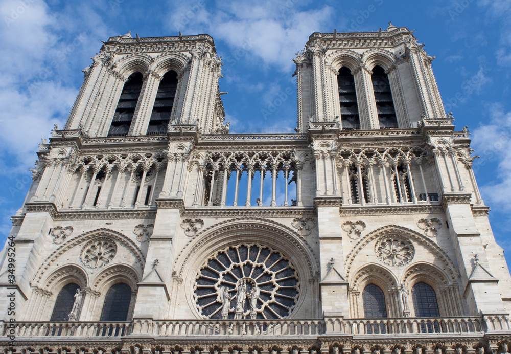
<path id="1" fill-rule="evenodd" d="M 101 321 L 126 321 L 131 302 L 131 288 L 119 283 L 113 285 L 105 297 Z"/>

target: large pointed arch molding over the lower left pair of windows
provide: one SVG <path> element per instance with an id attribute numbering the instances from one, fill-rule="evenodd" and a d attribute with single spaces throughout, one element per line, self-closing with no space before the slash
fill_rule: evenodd
<path id="1" fill-rule="evenodd" d="M 42 262 L 41 267 L 37 270 L 36 274 L 32 278 L 32 284 L 34 285 L 40 285 L 42 280 L 44 279 L 44 275 L 48 269 L 51 268 L 53 263 L 62 256 L 65 252 L 71 250 L 74 247 L 81 247 L 82 244 L 85 244 L 86 242 L 96 239 L 96 238 L 109 238 L 113 240 L 117 240 L 118 242 L 121 242 L 125 247 L 127 247 L 133 256 L 137 259 L 137 263 L 139 264 L 140 269 L 144 269 L 144 263 L 145 263 L 145 257 L 142 253 L 141 249 L 138 248 L 138 246 L 128 237 L 123 235 L 120 232 L 101 228 L 96 229 L 92 231 L 88 231 L 86 233 L 83 233 L 81 235 L 78 235 L 72 239 L 69 239 L 68 241 L 64 242 L 60 247 L 58 247 L 55 251 L 53 251 L 45 260 Z"/>

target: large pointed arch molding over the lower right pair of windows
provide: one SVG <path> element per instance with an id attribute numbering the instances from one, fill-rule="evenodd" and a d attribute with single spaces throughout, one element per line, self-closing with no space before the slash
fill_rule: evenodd
<path id="1" fill-rule="evenodd" d="M 352 266 L 357 255 L 369 245 L 371 241 L 378 239 L 379 237 L 397 234 L 402 236 L 408 240 L 415 241 L 420 244 L 422 247 L 427 249 L 431 254 L 433 254 L 436 258 L 442 261 L 444 265 L 445 273 L 449 275 L 451 280 L 454 282 L 457 278 L 460 277 L 459 271 L 457 270 L 455 264 L 451 260 L 451 258 L 447 255 L 447 253 L 442 250 L 435 242 L 433 242 L 428 237 L 424 235 L 408 229 L 403 226 L 398 225 L 387 225 L 381 227 L 379 229 L 374 230 L 373 232 L 368 233 L 366 236 L 362 237 L 357 244 L 353 247 L 350 253 L 346 257 L 346 275 L 347 277 L 353 276 L 352 274 L 356 274 L 356 272 L 352 271 Z M 412 261 L 408 264 L 408 267 L 413 266 L 413 264 L 417 263 L 412 259 Z"/>

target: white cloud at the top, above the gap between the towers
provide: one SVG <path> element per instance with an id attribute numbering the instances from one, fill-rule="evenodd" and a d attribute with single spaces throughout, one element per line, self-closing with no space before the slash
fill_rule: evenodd
<path id="1" fill-rule="evenodd" d="M 236 58 L 236 51 L 242 49 L 283 71 L 291 70 L 294 53 L 312 32 L 333 31 L 335 10 L 330 6 L 299 11 L 296 5 L 286 7 L 269 0 L 255 7 L 234 0 L 217 2 L 217 6 L 219 10 L 211 13 L 205 7 L 194 11 L 190 5 L 174 5 L 169 28 L 182 27 L 187 33 L 206 30 L 233 49 L 227 53 L 230 57 Z"/>

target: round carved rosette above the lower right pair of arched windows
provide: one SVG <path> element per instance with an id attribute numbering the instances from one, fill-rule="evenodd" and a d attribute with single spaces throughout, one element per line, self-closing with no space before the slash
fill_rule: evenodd
<path id="1" fill-rule="evenodd" d="M 376 241 L 375 253 L 382 263 L 399 267 L 412 260 L 415 249 L 406 238 L 398 235 L 386 235 Z"/>

